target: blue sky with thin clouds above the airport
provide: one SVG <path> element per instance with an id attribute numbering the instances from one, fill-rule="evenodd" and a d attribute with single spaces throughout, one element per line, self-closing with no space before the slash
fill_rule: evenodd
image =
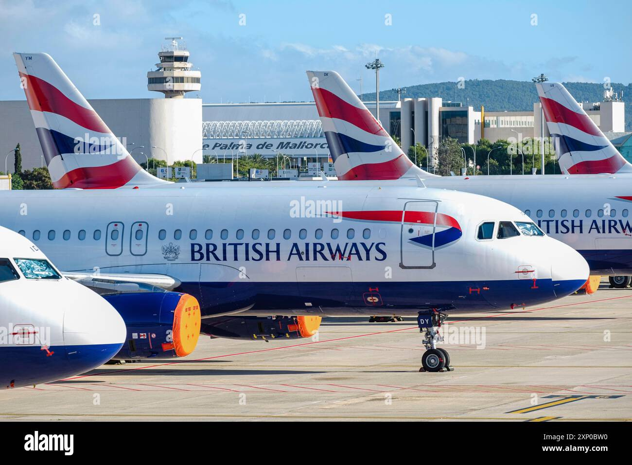
<path id="1" fill-rule="evenodd" d="M 204 102 L 310 100 L 308 69 L 356 92 L 362 76 L 370 92 L 376 53 L 382 89 L 541 72 L 628 84 L 631 20 L 626 1 L 0 0 L 0 99 L 24 99 L 13 51 L 51 54 L 87 98 L 159 97 L 145 75 L 171 35 L 202 71 Z"/>

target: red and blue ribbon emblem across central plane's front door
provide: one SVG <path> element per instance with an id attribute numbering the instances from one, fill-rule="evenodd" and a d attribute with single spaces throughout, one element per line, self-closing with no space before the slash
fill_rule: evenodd
<path id="1" fill-rule="evenodd" d="M 423 247 L 432 248 L 434 246 L 435 249 L 452 244 L 463 235 L 461 225 L 456 221 L 456 218 L 445 213 L 435 213 L 434 211 L 361 210 L 328 213 L 346 220 L 434 226 L 434 244 L 432 232 L 410 238 L 409 240 Z"/>

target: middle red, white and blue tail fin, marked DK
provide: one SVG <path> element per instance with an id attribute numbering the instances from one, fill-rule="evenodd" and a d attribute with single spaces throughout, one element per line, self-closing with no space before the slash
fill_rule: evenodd
<path id="1" fill-rule="evenodd" d="M 340 180 L 432 177 L 413 164 L 336 71 L 307 71 Z"/>

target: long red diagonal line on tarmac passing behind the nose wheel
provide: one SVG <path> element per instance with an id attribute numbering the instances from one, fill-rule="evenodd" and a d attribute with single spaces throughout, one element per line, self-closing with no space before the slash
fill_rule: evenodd
<path id="1" fill-rule="evenodd" d="M 504 313 L 493 313 L 493 314 L 489 314 L 489 315 L 485 315 L 485 316 L 474 316 L 472 318 L 458 319 L 458 320 L 455 320 L 455 321 L 450 321 L 450 323 L 451 324 L 453 324 L 453 323 L 463 323 L 465 321 L 473 321 L 473 320 L 477 320 L 477 319 L 494 318 L 495 316 L 506 316 L 506 315 L 511 315 L 511 314 L 532 313 L 532 312 L 540 311 L 540 310 L 550 310 L 550 309 L 556 309 L 556 308 L 562 308 L 562 307 L 572 307 L 572 306 L 578 306 L 578 305 L 594 304 L 596 302 L 614 301 L 614 300 L 617 300 L 617 299 L 629 299 L 631 297 L 632 297 L 632 295 L 621 295 L 619 297 L 609 297 L 607 299 L 597 299 L 595 301 L 576 302 L 574 304 L 564 304 L 564 305 L 557 305 L 557 306 L 551 306 L 551 307 L 540 307 L 540 308 L 535 308 L 535 309 L 532 309 L 532 310 L 521 310 L 521 311 L 504 312 Z M 213 356 L 213 357 L 204 357 L 204 358 L 200 358 L 200 359 L 178 360 L 178 361 L 162 363 L 162 364 L 138 366 L 137 368 L 119 369 L 119 370 L 116 370 L 116 371 L 102 371 L 100 373 L 92 373 L 92 374 L 89 374 L 89 375 L 72 376 L 71 378 L 65 378 L 64 380 L 66 380 L 66 381 L 68 381 L 68 380 L 78 380 L 78 379 L 81 379 L 81 378 L 87 378 L 88 376 L 114 375 L 116 373 L 123 373 L 125 371 L 135 371 L 135 370 L 138 370 L 138 369 L 176 365 L 176 364 L 180 364 L 180 363 L 188 363 L 190 361 L 203 361 L 203 360 L 221 359 L 221 358 L 224 358 L 224 357 L 236 357 L 236 356 L 241 356 L 241 355 L 257 354 L 259 352 L 269 352 L 270 350 L 293 349 L 295 347 L 303 347 L 305 345 L 323 344 L 325 342 L 336 342 L 336 341 L 339 341 L 339 340 L 355 339 L 355 338 L 358 338 L 358 337 L 368 337 L 368 336 L 374 336 L 374 335 L 379 335 L 379 334 L 398 333 L 398 332 L 402 332 L 402 331 L 410 331 L 410 330 L 416 330 L 416 329 L 418 329 L 418 326 L 409 326 L 408 328 L 398 328 L 396 330 L 376 331 L 376 332 L 372 332 L 372 333 L 357 334 L 355 336 L 346 336 L 346 337 L 325 339 L 325 340 L 312 341 L 312 342 L 303 342 L 301 344 L 283 345 L 282 347 L 270 347 L 269 349 L 248 350 L 246 352 L 235 352 L 233 354 L 224 354 L 224 355 L 218 355 L 218 356 Z"/>

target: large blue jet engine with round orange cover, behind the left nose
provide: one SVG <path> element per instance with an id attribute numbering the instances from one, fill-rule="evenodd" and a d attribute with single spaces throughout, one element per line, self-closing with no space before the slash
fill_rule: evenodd
<path id="1" fill-rule="evenodd" d="M 127 327 L 116 360 L 184 357 L 200 336 L 200 304 L 179 292 L 138 292 L 105 295 Z"/>

